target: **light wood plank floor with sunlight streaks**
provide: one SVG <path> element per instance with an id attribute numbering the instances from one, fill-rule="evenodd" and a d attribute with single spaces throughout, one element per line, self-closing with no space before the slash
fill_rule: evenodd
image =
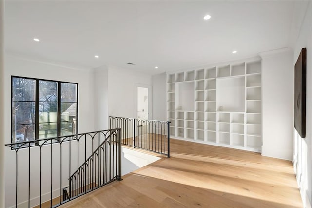
<path id="1" fill-rule="evenodd" d="M 303 207 L 290 161 L 175 139 L 171 152 L 61 207 Z"/>

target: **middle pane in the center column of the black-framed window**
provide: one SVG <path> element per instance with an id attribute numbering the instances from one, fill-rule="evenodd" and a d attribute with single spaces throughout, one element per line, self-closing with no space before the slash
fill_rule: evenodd
<path id="1" fill-rule="evenodd" d="M 40 102 L 39 103 L 39 123 L 58 121 L 58 103 Z"/>

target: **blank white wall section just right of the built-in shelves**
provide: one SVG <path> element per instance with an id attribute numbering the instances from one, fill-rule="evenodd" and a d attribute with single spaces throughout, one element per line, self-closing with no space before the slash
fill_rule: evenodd
<path id="1" fill-rule="evenodd" d="M 262 56 L 262 155 L 292 160 L 293 65 L 290 49 Z"/>

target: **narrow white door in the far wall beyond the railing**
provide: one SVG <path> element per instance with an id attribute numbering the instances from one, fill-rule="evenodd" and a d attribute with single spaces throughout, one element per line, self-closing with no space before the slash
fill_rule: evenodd
<path id="1" fill-rule="evenodd" d="M 137 84 L 136 115 L 137 119 L 152 118 L 152 87 Z"/>

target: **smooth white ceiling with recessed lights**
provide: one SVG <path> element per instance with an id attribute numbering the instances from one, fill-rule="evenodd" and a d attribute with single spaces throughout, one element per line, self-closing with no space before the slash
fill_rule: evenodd
<path id="1" fill-rule="evenodd" d="M 287 47 L 293 8 L 293 1 L 6 1 L 5 47 L 156 74 Z"/>

